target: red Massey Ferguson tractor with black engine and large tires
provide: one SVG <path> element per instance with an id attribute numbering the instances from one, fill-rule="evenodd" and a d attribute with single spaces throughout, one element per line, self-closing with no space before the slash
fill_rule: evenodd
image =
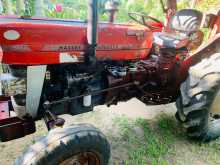
<path id="1" fill-rule="evenodd" d="M 110 145 L 100 130 L 62 128 L 58 115 L 133 97 L 147 105 L 176 101 L 176 117 L 190 138 L 220 136 L 220 12 L 176 12 L 169 0 L 166 25 L 129 13 L 142 24 L 134 25 L 114 23 L 116 7 L 108 3 L 108 23 L 98 23 L 97 0 L 88 0 L 87 21 L 1 16 L 0 139 L 31 134 L 42 118 L 50 130 L 15 164 L 108 164 Z M 201 27 L 211 28 L 211 37 L 192 53 Z"/>

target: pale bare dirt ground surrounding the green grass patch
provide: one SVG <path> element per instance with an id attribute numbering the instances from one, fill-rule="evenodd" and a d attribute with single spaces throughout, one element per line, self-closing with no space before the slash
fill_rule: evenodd
<path id="1" fill-rule="evenodd" d="M 158 116 L 161 114 L 168 114 L 168 118 L 174 118 L 176 111 L 174 104 L 161 105 L 161 106 L 146 106 L 136 99 L 132 99 L 127 103 L 120 103 L 117 106 L 107 108 L 106 106 L 99 106 L 95 108 L 94 112 L 69 116 L 64 115 L 66 125 L 75 123 L 91 123 L 101 129 L 108 137 L 111 144 L 111 160 L 110 164 L 134 164 L 125 163 L 126 159 L 129 159 L 130 151 L 126 148 L 128 141 L 123 140 L 120 134 L 120 128 L 115 122 L 115 118 L 127 118 L 128 121 L 135 120 L 137 118 L 147 119 L 152 123 L 157 122 Z M 175 125 L 178 125 L 176 120 L 173 120 Z M 46 128 L 42 121 L 37 122 L 37 132 L 33 135 L 26 136 L 22 139 L 13 140 L 6 143 L 0 143 L 0 165 L 11 165 L 14 159 L 20 155 L 28 145 L 33 144 L 39 137 L 46 134 Z M 171 130 L 175 131 L 175 130 Z M 138 137 L 143 136 L 143 130 L 140 128 L 134 128 L 134 134 Z M 163 136 L 163 134 L 162 134 Z M 150 137 L 149 137 L 150 138 Z M 206 150 L 206 145 L 200 145 L 190 142 L 186 138 L 174 137 L 171 144 L 172 151 L 165 155 L 167 164 L 172 165 L 217 165 L 220 162 L 218 158 L 220 147 L 217 150 Z M 150 165 L 150 164 L 149 164 Z"/>

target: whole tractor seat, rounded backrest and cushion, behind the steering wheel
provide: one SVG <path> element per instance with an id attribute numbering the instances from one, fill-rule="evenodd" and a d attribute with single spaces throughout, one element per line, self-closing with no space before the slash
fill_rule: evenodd
<path id="1" fill-rule="evenodd" d="M 194 9 L 178 11 L 170 20 L 170 32 L 154 33 L 154 43 L 165 48 L 179 49 L 190 42 L 190 35 L 199 31 L 203 14 Z M 166 30 L 166 29 L 165 29 Z"/>

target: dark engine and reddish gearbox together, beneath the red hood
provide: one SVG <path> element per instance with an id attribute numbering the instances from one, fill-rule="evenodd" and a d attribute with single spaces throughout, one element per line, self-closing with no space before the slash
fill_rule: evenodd
<path id="1" fill-rule="evenodd" d="M 96 72 L 90 72 L 85 64 L 48 65 L 37 116 L 45 113 L 45 102 L 54 103 L 51 111 L 55 114 L 72 115 L 91 111 L 96 105 L 110 106 L 133 97 L 146 103 L 171 102 L 171 96 L 175 96 L 167 92 L 166 87 L 175 82 L 175 68 L 181 62 L 176 54 L 161 49 L 145 60 L 99 62 Z M 183 52 L 181 54 L 183 56 Z M 12 96 L 13 107 L 23 118 L 27 115 L 27 67 L 8 65 L 7 68 L 15 80 L 4 82 L 3 92 Z M 166 91 L 164 96 L 162 90 Z M 68 98 L 74 99 L 65 101 Z"/>

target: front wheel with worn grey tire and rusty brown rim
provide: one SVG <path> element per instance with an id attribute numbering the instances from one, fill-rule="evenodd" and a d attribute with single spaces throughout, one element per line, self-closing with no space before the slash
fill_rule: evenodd
<path id="1" fill-rule="evenodd" d="M 110 145 L 89 124 L 51 130 L 18 157 L 15 165 L 107 165 Z"/>

